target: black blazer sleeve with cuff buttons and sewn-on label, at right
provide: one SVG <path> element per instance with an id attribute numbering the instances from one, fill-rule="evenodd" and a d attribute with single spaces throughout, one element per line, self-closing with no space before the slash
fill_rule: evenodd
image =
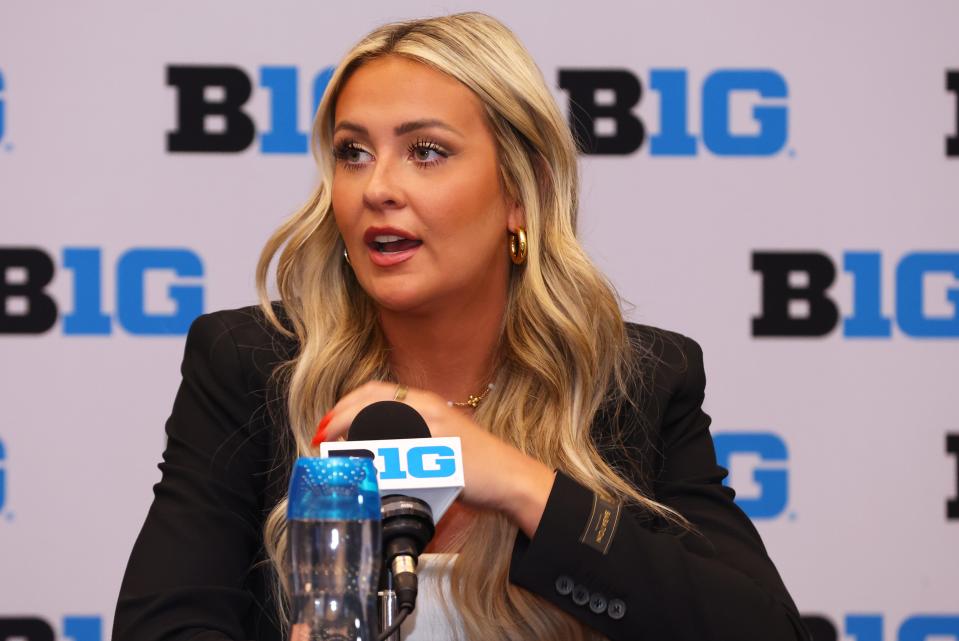
<path id="1" fill-rule="evenodd" d="M 748 517 L 722 485 L 702 350 L 683 338 L 688 367 L 662 417 L 656 499 L 695 531 L 654 527 L 640 508 L 607 503 L 559 472 L 532 540 L 517 535 L 513 583 L 613 641 L 808 639 L 796 606 Z"/>

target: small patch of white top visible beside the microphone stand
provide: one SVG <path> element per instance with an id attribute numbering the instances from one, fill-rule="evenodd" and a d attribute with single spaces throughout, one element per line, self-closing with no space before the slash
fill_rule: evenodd
<path id="1" fill-rule="evenodd" d="M 400 641 L 463 639 L 463 622 L 450 598 L 450 569 L 455 558 L 453 554 L 420 555 L 416 565 L 416 609 L 400 626 Z"/>

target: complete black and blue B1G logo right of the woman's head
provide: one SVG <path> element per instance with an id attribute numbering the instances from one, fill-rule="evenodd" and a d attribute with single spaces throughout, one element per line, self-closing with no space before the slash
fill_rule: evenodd
<path id="1" fill-rule="evenodd" d="M 626 69 L 560 69 L 559 86 L 569 96 L 569 123 L 583 152 L 631 154 L 646 140 L 647 124 L 633 110 L 643 97 L 640 79 Z M 652 156 L 695 156 L 700 143 L 717 156 L 772 156 L 789 135 L 786 79 L 772 69 L 717 69 L 690 92 L 685 69 L 653 69 L 649 89 L 659 98 L 659 132 L 649 139 Z M 754 99 L 745 126 L 737 126 L 733 104 Z M 690 103 L 699 101 L 699 137 L 690 129 Z"/>

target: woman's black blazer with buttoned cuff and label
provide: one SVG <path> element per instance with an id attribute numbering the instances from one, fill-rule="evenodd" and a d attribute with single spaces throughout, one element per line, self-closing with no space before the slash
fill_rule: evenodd
<path id="1" fill-rule="evenodd" d="M 701 409 L 702 351 L 672 332 L 629 332 L 644 347 L 642 415 L 605 408 L 594 440 L 696 532 L 599 500 L 559 473 L 535 536 L 517 536 L 511 581 L 614 641 L 808 638 L 758 533 L 722 486 Z M 286 641 L 262 526 L 286 492 L 291 459 L 271 373 L 295 351 L 256 308 L 194 321 L 114 641 Z"/>

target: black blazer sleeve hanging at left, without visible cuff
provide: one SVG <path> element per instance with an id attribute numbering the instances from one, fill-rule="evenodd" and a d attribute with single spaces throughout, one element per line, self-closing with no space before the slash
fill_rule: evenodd
<path id="1" fill-rule="evenodd" d="M 114 641 L 250 638 L 245 584 L 262 543 L 267 454 L 250 430 L 257 400 L 243 371 L 221 316 L 197 318 L 166 424 L 162 477 L 120 588 Z"/>

